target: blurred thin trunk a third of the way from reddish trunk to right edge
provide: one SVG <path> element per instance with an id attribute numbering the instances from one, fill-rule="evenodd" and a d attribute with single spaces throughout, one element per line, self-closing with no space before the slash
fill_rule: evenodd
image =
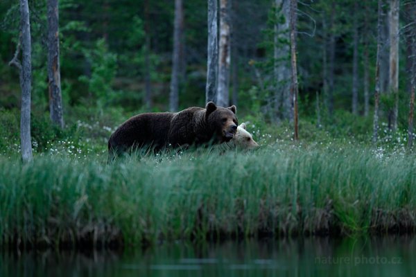
<path id="1" fill-rule="evenodd" d="M 328 91 L 328 111 L 329 116 L 333 114 L 333 74 L 335 71 L 335 1 L 331 3 L 331 15 L 329 15 L 329 91 Z"/>

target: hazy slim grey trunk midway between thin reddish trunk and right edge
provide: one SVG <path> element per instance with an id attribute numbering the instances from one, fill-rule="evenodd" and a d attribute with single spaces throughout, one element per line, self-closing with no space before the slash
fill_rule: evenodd
<path id="1" fill-rule="evenodd" d="M 354 54 L 352 58 L 352 113 L 358 115 L 358 23 L 357 14 L 358 2 L 354 2 L 354 17 L 353 17 L 353 28 L 354 28 Z"/>

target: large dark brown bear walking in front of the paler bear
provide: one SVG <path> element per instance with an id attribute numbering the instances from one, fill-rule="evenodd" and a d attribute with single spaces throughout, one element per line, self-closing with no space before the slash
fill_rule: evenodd
<path id="1" fill-rule="evenodd" d="M 239 125 L 236 106 L 189 107 L 177 113 L 146 113 L 133 116 L 114 131 L 108 140 L 109 158 L 132 148 L 201 145 L 230 141 Z"/>

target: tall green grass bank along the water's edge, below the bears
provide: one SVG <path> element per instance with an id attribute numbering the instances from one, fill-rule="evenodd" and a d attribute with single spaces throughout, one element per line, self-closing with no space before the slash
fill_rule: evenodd
<path id="1" fill-rule="evenodd" d="M 0 158 L 1 244 L 89 246 L 416 230 L 414 154 L 270 145 L 125 159 Z"/>

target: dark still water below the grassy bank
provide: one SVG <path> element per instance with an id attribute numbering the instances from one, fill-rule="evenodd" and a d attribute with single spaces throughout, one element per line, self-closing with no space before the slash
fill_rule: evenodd
<path id="1" fill-rule="evenodd" d="M 0 276 L 416 276 L 416 237 L 0 253 Z"/>

